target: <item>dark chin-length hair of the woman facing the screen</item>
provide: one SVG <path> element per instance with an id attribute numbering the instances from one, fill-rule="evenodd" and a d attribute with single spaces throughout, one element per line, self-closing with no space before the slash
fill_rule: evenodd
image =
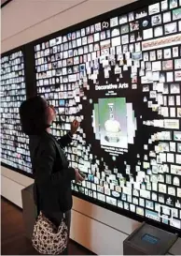
<path id="1" fill-rule="evenodd" d="M 39 135 L 49 128 L 47 123 L 47 102 L 39 96 L 28 98 L 21 103 L 21 128 L 27 135 Z"/>

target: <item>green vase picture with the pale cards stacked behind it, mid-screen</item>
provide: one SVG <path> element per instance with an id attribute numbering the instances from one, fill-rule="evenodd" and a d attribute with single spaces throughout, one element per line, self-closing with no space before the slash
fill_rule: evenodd
<path id="1" fill-rule="evenodd" d="M 126 98 L 99 98 L 94 104 L 94 132 L 101 145 L 128 148 L 127 110 Z M 129 114 L 133 122 L 132 112 Z"/>

